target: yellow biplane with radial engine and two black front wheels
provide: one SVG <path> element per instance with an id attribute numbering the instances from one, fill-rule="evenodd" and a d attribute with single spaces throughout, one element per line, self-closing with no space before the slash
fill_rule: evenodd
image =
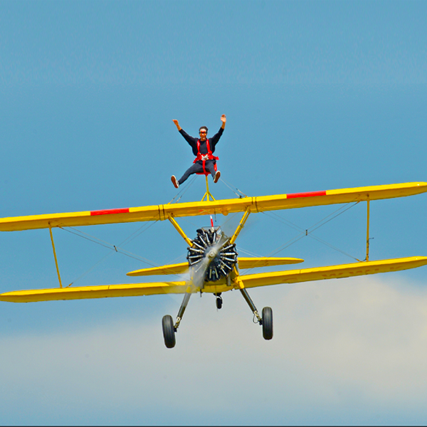
<path id="1" fill-rule="evenodd" d="M 79 300 L 86 298 L 131 297 L 140 295 L 184 294 L 175 322 L 172 316 L 162 319 L 164 343 L 172 348 L 176 344 L 178 330 L 184 311 L 192 294 L 209 292 L 216 297 L 216 307 L 223 304 L 222 294 L 229 290 L 238 290 L 248 303 L 255 323 L 262 327 L 265 339 L 273 338 L 273 310 L 264 307 L 258 312 L 248 289 L 258 286 L 278 285 L 282 283 L 301 283 L 310 280 L 349 278 L 359 275 L 386 273 L 427 264 L 427 257 L 412 256 L 386 260 L 369 260 L 369 204 L 371 201 L 412 196 L 427 191 L 426 182 L 364 186 L 350 189 L 312 191 L 297 194 L 274 196 L 239 197 L 236 199 L 215 200 L 209 192 L 206 177 L 206 193 L 201 201 L 169 203 L 157 206 L 142 206 L 126 209 L 107 209 L 101 211 L 83 211 L 67 214 L 43 214 L 0 218 L 0 231 L 22 231 L 36 228 L 48 228 L 51 236 L 53 255 L 56 262 L 59 287 L 51 289 L 16 290 L 0 294 L 1 301 L 38 302 L 53 300 Z M 268 273 L 241 274 L 241 270 L 273 265 L 302 263 L 300 258 L 283 257 L 241 257 L 236 250 L 236 239 L 245 226 L 248 216 L 265 211 L 296 209 L 307 206 L 347 204 L 367 202 L 367 256 L 366 260 L 342 265 L 328 265 L 319 268 L 283 270 Z M 196 237 L 186 236 L 176 221 L 185 216 L 224 215 L 242 213 L 236 231 L 226 236 L 221 227 L 210 226 L 196 230 Z M 134 270 L 127 275 L 132 277 L 146 275 L 169 275 L 189 272 L 185 280 L 154 283 L 130 283 L 119 285 L 96 285 L 63 287 L 60 279 L 58 260 L 52 229 L 56 227 L 95 226 L 108 223 L 130 223 L 136 221 L 170 221 L 176 231 L 188 244 L 185 263 L 162 265 L 154 268 Z"/>

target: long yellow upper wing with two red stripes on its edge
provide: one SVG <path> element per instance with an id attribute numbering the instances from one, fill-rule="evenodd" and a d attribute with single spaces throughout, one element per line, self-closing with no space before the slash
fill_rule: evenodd
<path id="1" fill-rule="evenodd" d="M 340 204 L 352 201 L 391 199 L 412 196 L 427 191 L 426 182 L 408 182 L 365 186 L 353 189 L 312 191 L 309 193 L 280 194 L 278 196 L 244 197 L 216 201 L 193 201 L 180 204 L 142 206 L 139 208 L 106 209 L 104 211 L 72 212 L 0 218 L 0 231 L 31 230 L 34 228 L 93 226 L 134 221 L 162 221 L 170 216 L 228 215 L 234 212 L 263 212 L 277 209 L 302 208 Z"/>

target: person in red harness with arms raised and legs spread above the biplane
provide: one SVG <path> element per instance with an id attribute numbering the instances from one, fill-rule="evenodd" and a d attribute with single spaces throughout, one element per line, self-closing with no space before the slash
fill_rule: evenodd
<path id="1" fill-rule="evenodd" d="M 179 133 L 184 137 L 186 142 L 190 144 L 193 149 L 193 154 L 196 156 L 193 166 L 186 170 L 179 181 L 177 181 L 175 176 L 172 175 L 171 181 L 176 189 L 184 183 L 191 174 L 204 174 L 209 172 L 212 175 L 212 178 L 214 178 L 214 182 L 218 181 L 221 176 L 221 172 L 216 171 L 216 160 L 218 160 L 218 157 L 215 157 L 212 153 L 215 151 L 216 144 L 218 144 L 221 135 L 223 135 L 224 128 L 226 127 L 226 121 L 226 115 L 223 114 L 221 116 L 221 122 L 223 123 L 219 128 L 218 133 L 209 139 L 207 138 L 208 128 L 206 126 L 202 126 L 199 129 L 200 139 L 197 139 L 190 137 L 190 135 L 188 135 L 181 126 L 179 126 L 178 120 L 172 120 L 176 128 L 179 130 Z"/>

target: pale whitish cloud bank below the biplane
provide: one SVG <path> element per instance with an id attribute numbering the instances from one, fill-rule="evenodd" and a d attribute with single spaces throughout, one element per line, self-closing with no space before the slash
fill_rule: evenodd
<path id="1" fill-rule="evenodd" d="M 295 423 L 346 406 L 423 411 L 427 292 L 399 278 L 253 290 L 260 310 L 273 307 L 271 342 L 239 292 L 223 295 L 220 312 L 211 295 L 192 297 L 172 350 L 161 319 L 140 317 L 1 337 L 1 412 L 5 423 Z M 165 314 L 178 310 L 171 302 Z M 29 418 L 16 418 L 22 406 Z"/>

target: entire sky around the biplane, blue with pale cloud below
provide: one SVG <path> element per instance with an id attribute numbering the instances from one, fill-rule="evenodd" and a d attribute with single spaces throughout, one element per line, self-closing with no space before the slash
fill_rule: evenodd
<path id="1" fill-rule="evenodd" d="M 222 114 L 218 167 L 250 196 L 427 181 L 426 12 L 422 1 L 1 1 L 0 216 L 167 203 L 170 176 L 193 160 L 172 119 L 213 135 Z M 221 181 L 211 191 L 235 196 Z M 198 177 L 182 200 L 203 193 Z M 338 207 L 278 214 L 305 229 Z M 372 203 L 370 259 L 427 255 L 425 211 L 425 195 Z M 194 237 L 208 221 L 179 222 Z M 143 231 L 127 251 L 184 261 L 169 223 L 140 227 L 82 231 L 116 245 Z M 53 232 L 64 283 L 130 283 L 146 266 Z M 268 255 L 295 235 L 254 214 L 238 251 Z M 315 235 L 364 258 L 366 204 Z M 2 291 L 57 285 L 48 231 L 0 239 Z M 352 262 L 309 237 L 278 255 Z M 273 307 L 271 342 L 237 292 L 220 312 L 193 297 L 172 351 L 161 320 L 181 297 L 4 302 L 1 423 L 425 425 L 425 285 L 419 268 L 255 289 L 258 308 Z"/>

